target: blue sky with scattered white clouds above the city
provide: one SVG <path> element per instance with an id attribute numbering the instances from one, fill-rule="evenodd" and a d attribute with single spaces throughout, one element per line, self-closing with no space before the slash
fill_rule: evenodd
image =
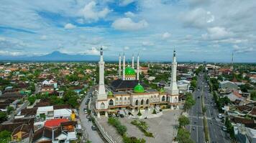
<path id="1" fill-rule="evenodd" d="M 0 56 L 256 62 L 255 0 L 1 0 Z"/>

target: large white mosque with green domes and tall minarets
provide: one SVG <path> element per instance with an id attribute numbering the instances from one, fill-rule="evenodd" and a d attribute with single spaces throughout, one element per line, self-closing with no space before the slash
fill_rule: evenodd
<path id="1" fill-rule="evenodd" d="M 123 65 L 122 65 L 123 64 Z M 121 67 L 122 65 L 122 67 Z M 104 58 L 100 51 L 99 61 L 99 89 L 95 102 L 97 117 L 116 112 L 118 109 L 128 109 L 132 112 L 139 109 L 148 109 L 161 104 L 170 104 L 170 107 L 178 108 L 178 87 L 176 83 L 177 62 L 173 51 L 173 63 L 170 86 L 157 91 L 150 89 L 147 84 L 140 81 L 140 56 L 137 56 L 137 68 L 134 68 L 134 56 L 132 66 L 127 66 L 125 56 L 123 62 L 119 55 L 119 79 L 111 82 L 110 86 L 104 84 Z"/>

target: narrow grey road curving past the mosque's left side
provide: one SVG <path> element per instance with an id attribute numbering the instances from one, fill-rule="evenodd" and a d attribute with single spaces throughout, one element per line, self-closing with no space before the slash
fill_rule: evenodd
<path id="1" fill-rule="evenodd" d="M 92 88 L 89 90 L 88 94 L 86 94 L 86 97 L 83 99 L 83 102 L 81 102 L 81 105 L 79 107 L 79 117 L 81 120 L 82 129 L 84 129 L 86 136 L 88 136 L 89 141 L 92 143 L 104 143 L 103 139 L 101 139 L 101 136 L 97 131 L 93 131 L 91 129 L 91 126 L 93 125 L 92 122 L 89 122 L 88 119 L 86 119 L 86 115 L 83 112 L 83 109 L 87 107 L 86 101 L 91 95 Z"/>

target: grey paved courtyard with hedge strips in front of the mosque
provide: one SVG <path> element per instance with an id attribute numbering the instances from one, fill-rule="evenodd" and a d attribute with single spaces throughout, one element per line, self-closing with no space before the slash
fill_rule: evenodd
<path id="1" fill-rule="evenodd" d="M 143 138 L 146 142 L 158 142 L 158 143 L 167 143 L 173 142 L 175 134 L 177 134 L 177 125 L 178 125 L 178 116 L 180 115 L 181 110 L 168 110 L 163 111 L 163 115 L 161 117 L 155 117 L 151 119 L 142 119 L 147 122 L 149 126 L 149 132 L 152 132 L 154 138 L 145 137 L 145 135 L 131 124 L 133 119 L 128 119 L 128 117 L 119 118 L 120 122 L 127 127 L 127 133 L 132 137 Z M 101 117 L 99 119 L 101 125 L 104 127 L 106 132 L 108 132 L 111 137 L 114 138 L 116 142 L 122 142 L 122 137 L 117 134 L 116 129 L 111 127 L 107 123 L 106 117 Z"/>

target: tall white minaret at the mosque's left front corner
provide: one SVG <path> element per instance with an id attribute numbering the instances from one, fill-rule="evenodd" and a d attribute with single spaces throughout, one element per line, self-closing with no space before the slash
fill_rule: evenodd
<path id="1" fill-rule="evenodd" d="M 105 62 L 103 61 L 103 51 L 101 48 L 101 59 L 99 61 L 99 93 L 97 96 L 97 99 L 106 99 L 106 89 L 105 89 L 105 84 L 104 84 L 104 64 Z"/>

